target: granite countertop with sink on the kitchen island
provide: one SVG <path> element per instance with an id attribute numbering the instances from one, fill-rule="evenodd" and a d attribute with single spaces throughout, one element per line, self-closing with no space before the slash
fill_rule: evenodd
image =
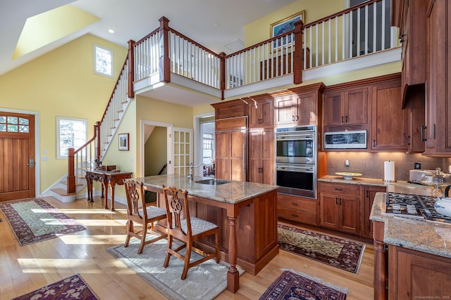
<path id="1" fill-rule="evenodd" d="M 188 195 L 202 197 L 227 203 L 239 203 L 252 197 L 277 190 L 277 185 L 268 185 L 261 183 L 250 183 L 246 181 L 230 181 L 224 184 L 209 185 L 196 183 L 203 179 L 214 179 L 211 177 L 194 176 L 190 181 L 185 175 L 156 175 L 142 178 L 134 178 L 136 181 L 142 181 L 144 185 L 151 188 L 161 189 L 162 185 L 175 186 L 182 190 L 187 190 Z"/>

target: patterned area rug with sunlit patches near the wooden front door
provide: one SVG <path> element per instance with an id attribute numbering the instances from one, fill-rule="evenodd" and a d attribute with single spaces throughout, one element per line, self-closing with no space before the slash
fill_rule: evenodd
<path id="1" fill-rule="evenodd" d="M 20 246 L 42 242 L 86 228 L 42 199 L 1 203 Z"/>

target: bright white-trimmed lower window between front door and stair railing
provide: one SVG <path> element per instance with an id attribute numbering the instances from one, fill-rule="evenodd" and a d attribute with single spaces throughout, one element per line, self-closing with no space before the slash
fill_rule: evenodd
<path id="1" fill-rule="evenodd" d="M 77 150 L 87 141 L 87 120 L 56 118 L 56 157 L 66 159 L 68 149 Z"/>

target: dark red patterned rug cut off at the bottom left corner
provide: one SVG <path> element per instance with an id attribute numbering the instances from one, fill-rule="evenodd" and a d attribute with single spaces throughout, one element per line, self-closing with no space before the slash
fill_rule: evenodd
<path id="1" fill-rule="evenodd" d="M 97 296 L 89 289 L 87 283 L 78 275 L 72 275 L 51 285 L 46 285 L 33 292 L 23 294 L 12 300 L 61 300 L 61 299 L 85 299 L 98 300 Z"/>

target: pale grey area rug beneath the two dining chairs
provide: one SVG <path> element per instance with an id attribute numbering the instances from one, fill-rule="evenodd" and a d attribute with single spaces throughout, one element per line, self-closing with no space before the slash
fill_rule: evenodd
<path id="1" fill-rule="evenodd" d="M 226 289 L 228 263 L 216 263 L 210 259 L 190 268 L 187 278 L 181 280 L 183 261 L 171 256 L 169 266 L 163 268 L 166 244 L 166 240 L 159 240 L 146 245 L 142 254 L 137 254 L 140 240 L 132 239 L 127 248 L 118 244 L 106 249 L 106 252 L 121 259 L 128 268 L 168 299 L 214 299 Z M 199 254 L 192 252 L 192 260 L 199 258 Z M 240 275 L 244 273 L 244 270 L 238 271 Z"/>

